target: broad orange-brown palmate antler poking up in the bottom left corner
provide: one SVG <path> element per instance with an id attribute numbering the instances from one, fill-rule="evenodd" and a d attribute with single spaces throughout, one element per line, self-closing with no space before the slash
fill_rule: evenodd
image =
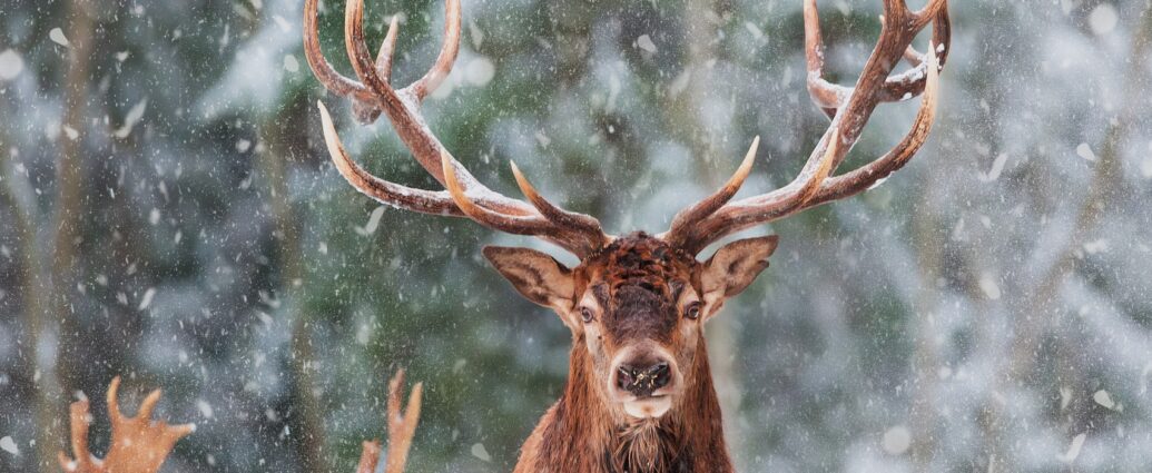
<path id="1" fill-rule="evenodd" d="M 79 473 L 154 473 L 172 452 L 176 441 L 196 430 L 196 425 L 169 426 L 162 420 L 153 421 L 152 410 L 160 400 L 157 389 L 141 403 L 136 417 L 124 417 L 120 412 L 118 391 L 120 376 L 108 386 L 108 420 L 112 421 L 112 447 L 104 459 L 96 458 L 88 450 L 88 426 L 91 415 L 88 400 L 71 404 L 71 449 L 75 459 L 61 451 L 60 466 L 66 472 Z"/>

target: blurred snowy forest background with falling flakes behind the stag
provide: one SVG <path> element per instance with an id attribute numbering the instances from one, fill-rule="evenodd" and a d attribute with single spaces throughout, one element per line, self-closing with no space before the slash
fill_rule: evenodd
<path id="1" fill-rule="evenodd" d="M 321 3 L 325 51 L 350 74 L 343 2 Z M 419 77 L 442 3 L 367 3 L 372 44 L 402 15 L 396 78 Z M 828 71 L 850 83 L 880 1 L 819 3 Z M 427 388 L 409 471 L 510 471 L 561 392 L 570 340 L 479 247 L 546 246 L 351 190 L 317 100 L 369 169 L 434 182 L 387 122 L 358 125 L 316 82 L 302 8 L 0 8 L 0 471 L 56 471 L 67 404 L 103 399 L 119 374 L 129 412 L 162 387 L 160 414 L 198 425 L 166 471 L 349 472 L 384 434 L 401 366 Z M 781 185 L 827 125 L 804 87 L 799 0 L 463 12 L 431 127 L 491 186 L 516 193 L 515 159 L 613 232 L 665 229 L 756 135 L 743 192 Z M 707 328 L 740 471 L 1152 467 L 1149 5 L 952 13 L 917 158 L 861 197 L 746 232 L 781 247 Z M 847 167 L 894 145 L 915 108 L 882 106 Z"/>

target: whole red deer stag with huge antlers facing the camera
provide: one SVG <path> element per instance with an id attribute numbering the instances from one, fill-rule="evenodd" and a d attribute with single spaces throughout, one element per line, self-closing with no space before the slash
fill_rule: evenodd
<path id="1" fill-rule="evenodd" d="M 935 115 L 938 74 L 948 52 L 946 0 L 918 12 L 884 0 L 880 38 L 854 87 L 823 78 L 823 43 L 814 0 L 804 2 L 809 91 L 832 122 L 788 185 L 733 201 L 751 169 L 757 140 L 728 183 L 681 211 L 660 235 L 611 236 L 596 219 L 569 212 L 537 192 L 513 165 L 524 200 L 493 192 L 448 153 L 420 114 L 423 100 L 449 74 L 460 46 L 460 1 L 447 1 L 445 43 L 435 64 L 403 89 L 391 84 L 397 22 L 379 55 L 365 43 L 363 0 L 348 0 L 344 39 L 356 79 L 325 60 L 317 33 L 317 0 L 304 12 L 304 45 L 317 78 L 351 100 L 355 116 L 387 116 L 400 139 L 444 191 L 379 178 L 353 161 L 319 104 L 324 138 L 336 169 L 358 191 L 393 207 L 468 218 L 498 231 L 535 236 L 579 258 L 568 268 L 522 247 L 484 249 L 521 295 L 552 308 L 573 333 L 568 384 L 524 443 L 516 472 L 730 472 L 720 406 L 704 346 L 704 323 L 768 266 L 776 237 L 730 243 L 705 261 L 711 243 L 736 231 L 869 189 L 904 166 L 927 138 Z M 927 54 L 911 48 L 932 24 Z M 939 55 L 939 56 L 938 56 Z M 907 59 L 912 68 L 893 75 Z M 923 94 L 911 131 L 889 152 L 836 175 L 880 102 Z"/>

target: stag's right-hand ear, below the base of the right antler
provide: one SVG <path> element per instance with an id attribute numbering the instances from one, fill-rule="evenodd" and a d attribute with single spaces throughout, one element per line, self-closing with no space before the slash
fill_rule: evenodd
<path id="1" fill-rule="evenodd" d="M 748 288 L 776 251 L 779 237 L 746 238 L 729 243 L 704 264 L 700 285 L 705 298 L 725 299 Z"/>

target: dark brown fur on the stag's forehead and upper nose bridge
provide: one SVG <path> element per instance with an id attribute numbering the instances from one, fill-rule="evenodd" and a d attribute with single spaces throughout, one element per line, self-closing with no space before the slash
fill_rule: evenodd
<path id="1" fill-rule="evenodd" d="M 675 302 L 696 260 L 659 238 L 635 232 L 617 238 L 582 267 L 605 305 L 605 323 L 617 338 L 666 338 L 675 327 Z"/>

